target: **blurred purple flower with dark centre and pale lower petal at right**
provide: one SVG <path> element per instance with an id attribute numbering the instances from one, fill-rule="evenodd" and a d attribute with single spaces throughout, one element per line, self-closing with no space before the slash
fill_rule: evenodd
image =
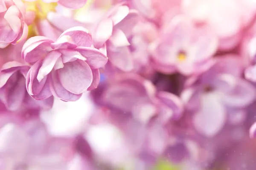
<path id="1" fill-rule="evenodd" d="M 238 56 L 222 56 L 207 72 L 189 81 L 181 96 L 186 108 L 195 112 L 193 122 L 199 133 L 216 135 L 229 117 L 254 101 L 255 88 L 241 79 L 242 70 Z"/>

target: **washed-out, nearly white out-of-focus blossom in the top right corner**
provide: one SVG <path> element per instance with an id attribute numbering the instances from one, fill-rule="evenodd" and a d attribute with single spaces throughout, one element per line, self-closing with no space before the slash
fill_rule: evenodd
<path id="1" fill-rule="evenodd" d="M 207 23 L 220 39 L 219 47 L 229 50 L 235 47 L 244 28 L 255 15 L 253 0 L 183 0 L 182 10 L 195 22 Z"/>

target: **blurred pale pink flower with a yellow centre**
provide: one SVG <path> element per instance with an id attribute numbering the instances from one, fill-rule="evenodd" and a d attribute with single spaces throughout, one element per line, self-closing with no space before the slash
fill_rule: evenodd
<path id="1" fill-rule="evenodd" d="M 188 18 L 176 16 L 151 45 L 153 66 L 163 73 L 198 73 L 208 67 L 217 45 L 210 28 L 197 27 Z"/>

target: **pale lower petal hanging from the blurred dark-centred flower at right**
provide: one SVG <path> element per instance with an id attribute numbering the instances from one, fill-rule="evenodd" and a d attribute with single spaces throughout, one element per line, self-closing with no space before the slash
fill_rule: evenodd
<path id="1" fill-rule="evenodd" d="M 201 108 L 193 117 L 195 129 L 204 136 L 215 136 L 226 121 L 226 113 L 217 93 L 208 92 L 201 96 Z"/>

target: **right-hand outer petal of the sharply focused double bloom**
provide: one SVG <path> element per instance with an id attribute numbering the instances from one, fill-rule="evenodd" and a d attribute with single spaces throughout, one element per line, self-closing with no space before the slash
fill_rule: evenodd
<path id="1" fill-rule="evenodd" d="M 108 62 L 108 57 L 96 48 L 79 47 L 76 48 L 76 51 L 86 58 L 87 64 L 92 69 L 101 68 Z"/>

